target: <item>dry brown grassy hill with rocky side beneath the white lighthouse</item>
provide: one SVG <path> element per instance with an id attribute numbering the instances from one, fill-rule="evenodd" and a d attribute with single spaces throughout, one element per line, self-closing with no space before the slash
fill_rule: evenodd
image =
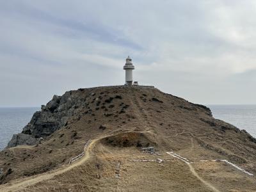
<path id="1" fill-rule="evenodd" d="M 255 138 L 205 106 L 143 86 L 79 89 L 0 152 L 0 191 L 255 191 L 255 162 Z"/>

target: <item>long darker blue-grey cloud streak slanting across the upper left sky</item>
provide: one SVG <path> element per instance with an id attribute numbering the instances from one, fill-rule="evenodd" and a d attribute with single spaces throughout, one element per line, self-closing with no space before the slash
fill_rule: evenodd
<path id="1" fill-rule="evenodd" d="M 64 35 L 66 38 L 83 38 L 83 36 L 90 36 L 98 41 L 109 42 L 111 44 L 119 44 L 132 49 L 141 49 L 140 45 L 120 38 L 122 34 L 118 34 L 115 28 L 109 28 L 109 26 L 104 26 L 98 24 L 97 22 L 92 22 L 91 20 L 72 20 L 72 19 L 63 19 L 61 15 L 53 15 L 51 12 L 46 12 L 45 10 L 40 10 L 35 6 L 30 4 L 24 4 L 22 2 L 7 2 L 9 6 L 2 7 L 1 11 L 8 15 L 8 12 L 12 12 L 12 15 L 15 17 L 23 17 L 28 20 L 35 20 L 44 24 L 52 24 L 54 26 L 60 27 L 59 31 L 55 31 L 58 35 Z M 12 6 L 11 6 L 12 5 Z M 10 10 L 6 10 L 9 8 Z M 46 26 L 47 27 L 47 26 Z M 44 30 L 44 29 L 43 29 Z"/>

